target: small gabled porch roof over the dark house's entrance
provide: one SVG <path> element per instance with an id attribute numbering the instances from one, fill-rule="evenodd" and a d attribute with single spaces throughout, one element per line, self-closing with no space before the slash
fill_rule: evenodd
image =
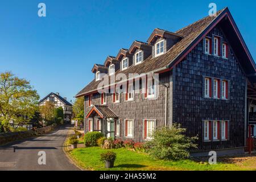
<path id="1" fill-rule="evenodd" d="M 101 118 L 117 118 L 118 116 L 114 113 L 109 106 L 93 105 L 89 112 L 86 114 L 86 118 L 92 115 L 98 115 Z"/>

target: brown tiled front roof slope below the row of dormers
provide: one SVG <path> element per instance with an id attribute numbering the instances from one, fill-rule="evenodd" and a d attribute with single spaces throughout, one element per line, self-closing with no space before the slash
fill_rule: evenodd
<path id="1" fill-rule="evenodd" d="M 207 28 L 214 19 L 216 19 L 225 9 L 222 9 L 217 12 L 217 16 L 207 16 L 203 19 L 198 20 L 195 23 L 189 24 L 189 26 L 184 27 L 175 32 L 175 34 L 179 34 L 183 36 L 183 38 L 177 42 L 171 49 L 169 49 L 164 55 L 152 58 L 149 56 L 146 60 L 143 61 L 142 64 L 132 65 L 128 69 L 124 71 L 118 70 L 117 73 L 125 73 L 127 76 L 129 73 L 148 73 L 161 68 L 168 68 L 169 65 L 179 56 L 181 53 L 185 51 L 189 45 L 192 44 L 193 40 L 197 38 L 204 30 Z M 147 44 L 147 43 L 144 43 Z M 148 44 L 147 44 L 148 45 Z M 97 90 L 97 86 L 101 81 L 93 80 L 84 89 L 82 89 L 79 93 L 77 93 L 76 97 L 83 96 L 86 93 Z"/>

